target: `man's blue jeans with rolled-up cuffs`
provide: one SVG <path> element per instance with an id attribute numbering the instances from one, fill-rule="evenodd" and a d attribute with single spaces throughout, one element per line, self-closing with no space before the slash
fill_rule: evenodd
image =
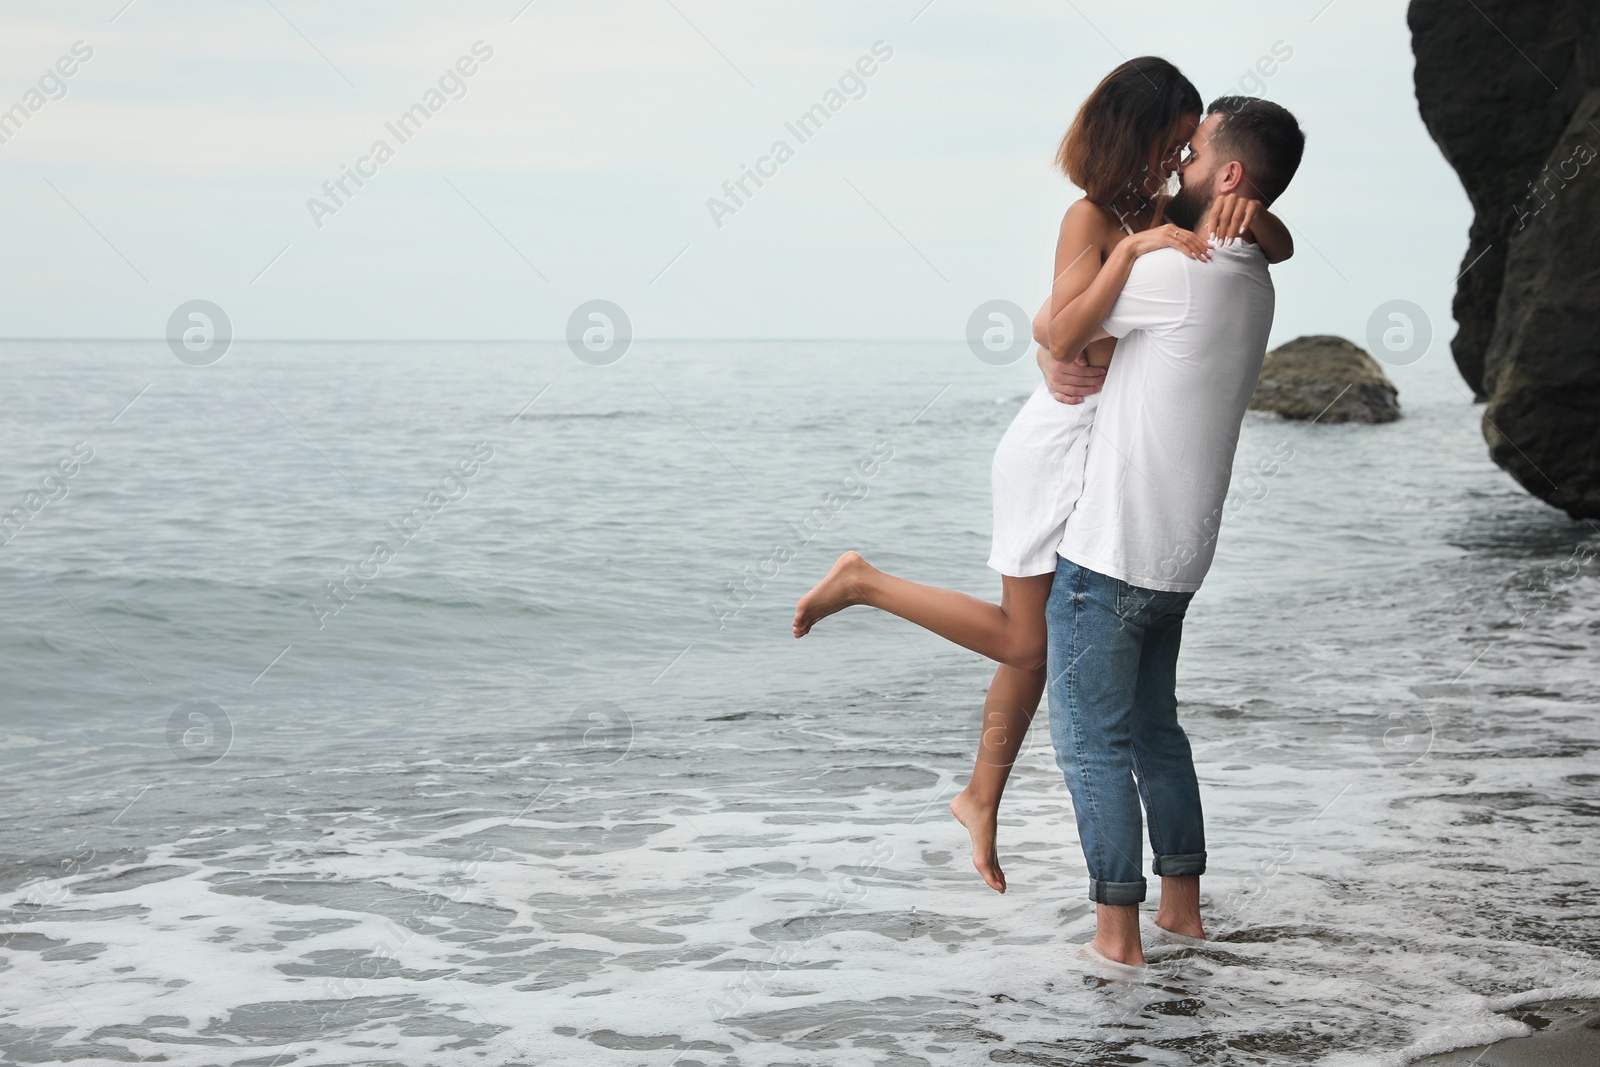
<path id="1" fill-rule="evenodd" d="M 1096 904 L 1144 899 L 1139 805 L 1157 875 L 1205 872 L 1205 819 L 1178 725 L 1178 645 L 1194 593 L 1141 589 L 1058 560 L 1050 741 L 1072 792 Z"/>

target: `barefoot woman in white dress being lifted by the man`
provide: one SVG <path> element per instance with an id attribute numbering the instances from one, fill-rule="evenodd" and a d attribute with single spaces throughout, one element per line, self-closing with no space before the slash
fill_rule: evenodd
<path id="1" fill-rule="evenodd" d="M 1189 78 L 1154 56 L 1123 62 L 1083 101 L 1056 165 L 1085 195 L 1061 222 L 1056 282 L 1034 318 L 1034 339 L 1051 358 L 1096 366 L 1110 362 L 1115 341 L 1104 334 L 1082 352 L 1064 350 L 1062 339 L 1098 333 L 1136 258 L 1176 248 L 1210 259 L 1202 237 L 1162 224 L 1168 186 L 1200 125 L 1200 110 Z M 1283 224 L 1254 200 L 1219 197 L 1202 230 L 1222 240 L 1254 240 L 1269 262 L 1293 254 Z M 950 801 L 971 835 L 973 865 L 997 893 L 1005 893 L 995 851 L 1000 795 L 1045 691 L 1045 601 L 1056 545 L 1083 485 L 1096 400 L 1059 403 L 1040 384 L 995 450 L 989 565 L 1002 576 L 998 605 L 885 574 L 846 552 L 795 609 L 795 637 L 835 611 L 870 605 L 1000 664 L 984 702 L 971 781 Z"/>

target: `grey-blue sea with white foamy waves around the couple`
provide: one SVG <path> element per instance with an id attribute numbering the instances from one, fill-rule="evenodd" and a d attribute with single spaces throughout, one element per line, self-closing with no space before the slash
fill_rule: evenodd
<path id="1" fill-rule="evenodd" d="M 1398 422 L 1246 418 L 1178 681 L 1211 939 L 1115 979 L 1045 723 L 1000 896 L 947 809 L 990 665 L 867 608 L 789 632 L 848 549 L 998 597 L 1026 357 L 0 342 L 3 1062 L 1400 1067 L 1528 1033 L 1600 997 L 1600 528 L 1488 461 L 1443 347 L 1389 368 Z"/>

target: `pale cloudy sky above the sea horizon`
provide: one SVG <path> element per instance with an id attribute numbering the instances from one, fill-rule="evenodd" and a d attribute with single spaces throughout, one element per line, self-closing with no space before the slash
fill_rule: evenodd
<path id="1" fill-rule="evenodd" d="M 0 125 L 0 336 L 154 341 L 206 299 L 235 338 L 554 341 L 606 299 L 638 338 L 958 341 L 986 301 L 1043 299 L 1078 197 L 1056 144 L 1110 67 L 1152 53 L 1307 133 L 1275 208 L 1298 254 L 1274 269 L 1274 344 L 1360 342 L 1397 299 L 1435 344 L 1454 331 L 1472 214 L 1418 117 L 1398 0 L 67 0 L 0 19 L 0 109 L 26 112 Z M 802 141 L 786 123 L 830 91 Z M 397 126 L 416 104 L 426 122 Z"/>

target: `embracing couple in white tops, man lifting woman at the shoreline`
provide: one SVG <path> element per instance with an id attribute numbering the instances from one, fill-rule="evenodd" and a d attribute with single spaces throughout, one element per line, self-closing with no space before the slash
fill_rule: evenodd
<path id="1" fill-rule="evenodd" d="M 1293 254 L 1267 205 L 1304 142 L 1269 101 L 1202 107 L 1165 59 L 1112 70 L 1056 155 L 1085 195 L 1061 222 L 1054 285 L 1034 318 L 1045 381 L 995 450 L 1000 603 L 846 552 L 795 611 L 805 637 L 870 605 L 1000 664 L 971 781 L 950 801 L 973 865 L 1000 893 L 1000 795 L 1048 689 L 1098 905 L 1085 952 L 1112 968 L 1144 963 L 1144 830 L 1162 880 L 1158 936 L 1205 937 L 1205 824 L 1178 723 L 1178 646 L 1272 328 L 1267 264 Z"/>

